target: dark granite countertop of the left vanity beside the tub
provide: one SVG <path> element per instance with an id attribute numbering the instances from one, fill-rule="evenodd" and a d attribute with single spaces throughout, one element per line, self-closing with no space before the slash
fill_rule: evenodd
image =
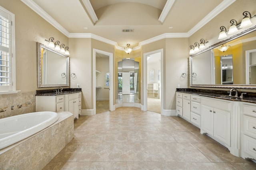
<path id="1" fill-rule="evenodd" d="M 36 96 L 57 96 L 63 94 L 71 94 L 71 93 L 78 93 L 82 92 L 81 88 L 63 88 L 62 92 L 56 92 L 57 89 L 51 90 L 36 90 Z"/>

